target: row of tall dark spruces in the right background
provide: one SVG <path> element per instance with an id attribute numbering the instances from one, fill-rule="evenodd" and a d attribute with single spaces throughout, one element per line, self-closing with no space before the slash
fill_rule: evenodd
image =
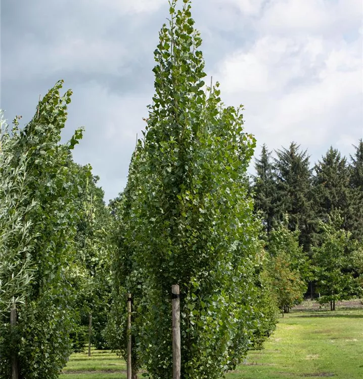
<path id="1" fill-rule="evenodd" d="M 338 234 L 330 235 L 335 245 L 327 249 L 327 256 L 320 257 L 329 225 L 330 234 L 341 233 L 347 239 L 347 246 L 341 246 L 345 262 L 335 262 L 334 268 L 339 268 L 339 272 L 332 280 L 337 283 L 347 273 L 355 279 L 359 276 L 359 268 L 351 264 L 359 255 L 356 252 L 363 238 L 363 140 L 353 147 L 349 158 L 331 147 L 313 166 L 307 150 L 294 142 L 277 150 L 275 155 L 263 145 L 260 157 L 255 159 L 256 174 L 251 184 L 255 213 L 262 219 L 267 241 L 281 224 L 297 233 L 307 262 L 302 276 L 310 282 L 310 296 L 326 292 L 323 286 L 327 281 L 326 261 L 332 262 L 329 254 L 339 256 L 334 246 L 343 244 Z M 354 295 L 354 286 L 345 287 L 335 289 L 335 293 L 332 290 L 331 296 L 323 297 L 322 302 L 332 301 L 334 308 L 335 300 Z"/>

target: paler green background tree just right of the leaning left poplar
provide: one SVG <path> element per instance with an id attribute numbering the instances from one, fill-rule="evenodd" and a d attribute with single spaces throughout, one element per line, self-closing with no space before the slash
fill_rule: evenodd
<path id="1" fill-rule="evenodd" d="M 111 303 L 111 267 L 109 239 L 110 213 L 103 201 L 104 192 L 97 186 L 98 177 L 90 174 L 89 167 L 77 166 L 83 181 L 78 207 L 81 215 L 77 225 L 77 253 L 74 262 L 76 272 L 73 286 L 77 289 L 74 308 L 77 324 L 88 325 L 92 314 L 92 343 L 98 349 L 107 347 L 103 336 Z M 80 335 L 81 341 L 82 335 Z M 79 345 L 81 341 L 75 340 Z"/>

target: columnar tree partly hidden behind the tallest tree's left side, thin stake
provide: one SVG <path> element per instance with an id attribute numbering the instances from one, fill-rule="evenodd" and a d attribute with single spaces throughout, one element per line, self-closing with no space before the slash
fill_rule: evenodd
<path id="1" fill-rule="evenodd" d="M 131 316 L 131 366 L 132 379 L 138 377 L 138 370 L 141 367 L 142 357 L 138 349 L 140 336 L 143 333 L 143 315 L 146 312 L 144 303 L 148 299 L 147 283 L 144 282 L 143 266 L 139 266 L 135 258 L 138 251 L 137 241 L 135 241 L 135 223 L 133 219 L 133 203 L 139 196 L 140 182 L 144 179 L 140 176 L 139 167 L 145 162 L 143 160 L 143 150 L 140 146 L 135 149 L 128 170 L 128 182 L 123 193 L 110 204 L 113 214 L 111 226 L 115 254 L 113 256 L 113 304 L 111 315 L 107 325 L 108 343 L 124 359 L 127 357 L 127 307 L 126 296 L 132 296 L 132 316 Z"/>

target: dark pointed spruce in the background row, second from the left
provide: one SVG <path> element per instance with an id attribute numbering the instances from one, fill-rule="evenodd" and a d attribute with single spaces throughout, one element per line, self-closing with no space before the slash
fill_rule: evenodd
<path id="1" fill-rule="evenodd" d="M 275 214 L 281 221 L 288 214 L 288 228 L 300 230 L 299 241 L 304 251 L 310 249 L 312 230 L 311 170 L 307 151 L 291 143 L 289 149 L 277 152 L 275 167 L 277 174 L 277 201 Z"/>

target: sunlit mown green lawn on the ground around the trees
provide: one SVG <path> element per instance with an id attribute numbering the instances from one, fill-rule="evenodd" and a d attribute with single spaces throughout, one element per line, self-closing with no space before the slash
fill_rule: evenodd
<path id="1" fill-rule="evenodd" d="M 226 379 L 363 379 L 363 306 L 330 312 L 310 305 L 281 318 L 265 349 L 251 351 Z M 125 370 L 116 355 L 93 351 L 73 354 L 60 379 L 124 379 Z"/>

